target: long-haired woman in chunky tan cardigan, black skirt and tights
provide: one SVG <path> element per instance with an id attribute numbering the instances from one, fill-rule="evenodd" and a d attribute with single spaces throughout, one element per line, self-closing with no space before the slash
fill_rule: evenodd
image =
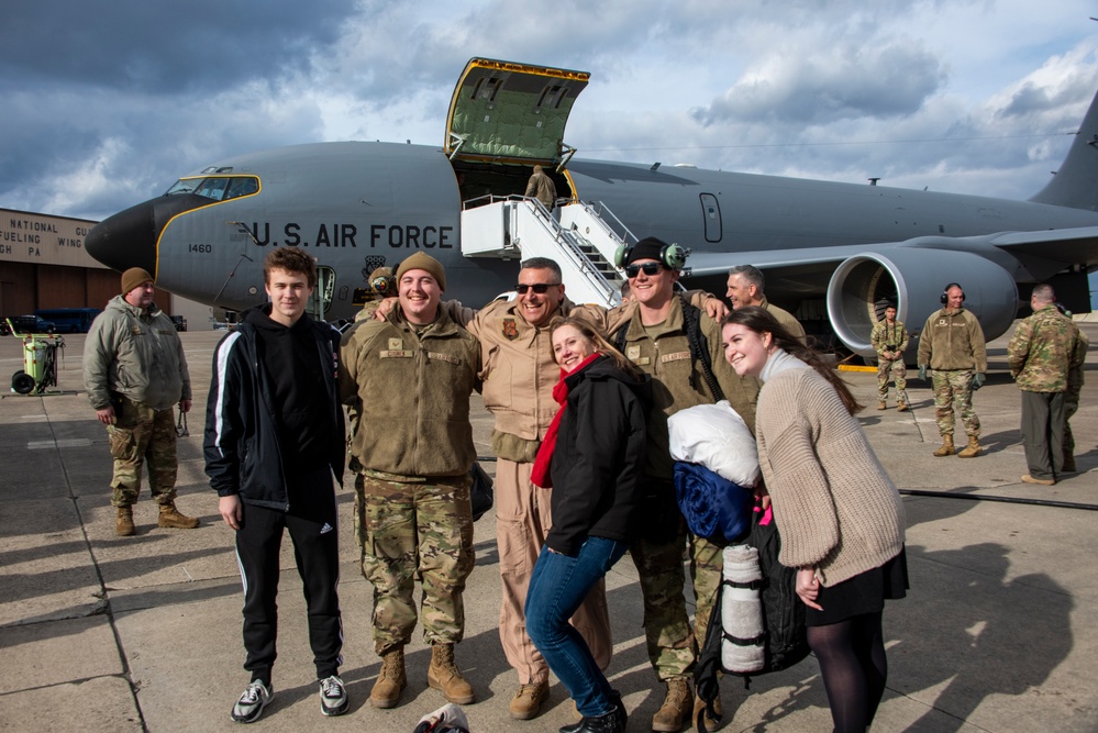
<path id="1" fill-rule="evenodd" d="M 862 406 L 814 351 L 754 307 L 721 335 L 736 374 L 763 381 L 758 459 L 835 731 L 864 733 L 885 691 L 885 599 L 908 588 L 899 492 L 854 418 Z"/>

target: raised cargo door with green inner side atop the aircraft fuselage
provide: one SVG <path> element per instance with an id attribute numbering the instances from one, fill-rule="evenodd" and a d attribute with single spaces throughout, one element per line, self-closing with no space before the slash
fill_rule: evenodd
<path id="1" fill-rule="evenodd" d="M 452 160 L 541 164 L 557 170 L 575 153 L 564 129 L 590 74 L 472 58 L 446 116 Z"/>

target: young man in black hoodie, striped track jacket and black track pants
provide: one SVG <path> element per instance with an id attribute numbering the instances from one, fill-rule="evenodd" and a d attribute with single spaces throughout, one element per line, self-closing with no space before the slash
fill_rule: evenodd
<path id="1" fill-rule="evenodd" d="M 350 707 L 339 667 L 343 626 L 334 481 L 342 480 L 343 409 L 336 395 L 340 333 L 304 310 L 317 285 L 312 258 L 278 247 L 264 262 L 270 303 L 244 312 L 213 352 L 206 473 L 236 531 L 244 582 L 244 668 L 252 681 L 232 719 L 251 723 L 274 696 L 278 554 L 284 527 L 304 584 L 321 712 Z M 319 387 L 319 388 L 318 388 Z"/>

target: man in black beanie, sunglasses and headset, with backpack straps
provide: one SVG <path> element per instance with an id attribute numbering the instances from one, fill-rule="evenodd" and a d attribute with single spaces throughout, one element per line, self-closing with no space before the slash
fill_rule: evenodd
<path id="1" fill-rule="evenodd" d="M 678 731 L 696 720 L 703 708 L 703 703 L 690 695 L 688 678 L 697 645 L 706 637 L 723 569 L 721 543 L 691 535 L 675 499 L 667 419 L 696 404 L 711 404 L 717 396 L 706 378 L 700 355 L 691 348 L 686 319 L 697 309 L 688 310 L 687 303 L 675 295 L 681 264 L 667 255 L 669 248 L 659 240 L 647 237 L 626 253 L 625 275 L 636 311 L 619 326 L 619 331 L 624 329 L 624 334 L 611 340 L 620 344 L 625 357 L 651 375 L 653 381 L 648 447 L 641 479 L 648 498 L 642 538 L 630 547 L 644 597 L 648 659 L 656 676 L 667 684 L 664 702 L 652 719 L 653 731 Z M 754 430 L 757 380 L 737 376 L 724 360 L 719 320 L 705 311 L 697 318 L 717 384 L 733 409 Z M 697 347 L 701 346 L 701 343 L 697 344 Z M 697 599 L 694 631 L 683 596 L 684 551 L 689 553 Z"/>

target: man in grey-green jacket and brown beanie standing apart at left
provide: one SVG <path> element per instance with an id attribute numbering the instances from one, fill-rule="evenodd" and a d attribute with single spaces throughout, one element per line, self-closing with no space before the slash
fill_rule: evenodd
<path id="1" fill-rule="evenodd" d="M 96 418 L 107 425 L 114 475 L 115 531 L 134 534 L 133 504 L 141 466 L 159 504 L 157 524 L 189 530 L 199 521 L 180 514 L 176 498 L 176 404 L 191 406 L 190 373 L 171 319 L 153 303 L 153 277 L 140 267 L 122 275 L 122 295 L 96 316 L 84 348 L 84 384 Z"/>

